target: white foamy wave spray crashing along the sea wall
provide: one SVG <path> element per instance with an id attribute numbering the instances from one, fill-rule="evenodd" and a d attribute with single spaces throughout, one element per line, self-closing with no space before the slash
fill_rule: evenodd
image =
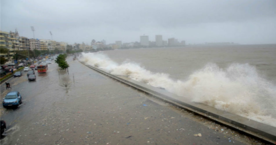
<path id="1" fill-rule="evenodd" d="M 82 53 L 79 60 L 113 75 L 165 88 L 193 102 L 276 127 L 276 85 L 248 63 L 232 63 L 224 69 L 216 63 L 206 63 L 180 80 L 167 73 L 152 72 L 130 60 L 117 63 L 101 52 Z"/>

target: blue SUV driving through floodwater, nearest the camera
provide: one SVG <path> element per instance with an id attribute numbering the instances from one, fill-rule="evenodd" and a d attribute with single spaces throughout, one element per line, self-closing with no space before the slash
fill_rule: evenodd
<path id="1" fill-rule="evenodd" d="M 22 103 L 22 97 L 19 92 L 9 92 L 3 101 L 3 107 L 19 106 Z"/>

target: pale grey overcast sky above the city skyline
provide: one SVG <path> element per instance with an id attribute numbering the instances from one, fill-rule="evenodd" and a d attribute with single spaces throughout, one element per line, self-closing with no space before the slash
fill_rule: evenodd
<path id="1" fill-rule="evenodd" d="M 140 41 L 276 44 L 276 0 L 1 0 L 1 31 L 69 44 Z"/>

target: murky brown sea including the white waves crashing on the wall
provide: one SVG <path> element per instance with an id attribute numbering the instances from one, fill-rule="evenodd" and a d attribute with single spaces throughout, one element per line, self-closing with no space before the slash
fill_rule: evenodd
<path id="1" fill-rule="evenodd" d="M 117 49 L 79 60 L 276 127 L 276 44 Z"/>

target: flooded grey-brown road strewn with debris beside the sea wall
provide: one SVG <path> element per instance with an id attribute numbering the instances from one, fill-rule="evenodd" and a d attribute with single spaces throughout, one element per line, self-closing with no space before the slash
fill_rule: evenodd
<path id="1" fill-rule="evenodd" d="M 3 144 L 262 144 L 229 128 L 175 108 L 67 59 L 52 61 L 36 81 L 23 76 L 1 85 L 1 102 L 19 91 L 22 104 L 3 108 Z"/>

